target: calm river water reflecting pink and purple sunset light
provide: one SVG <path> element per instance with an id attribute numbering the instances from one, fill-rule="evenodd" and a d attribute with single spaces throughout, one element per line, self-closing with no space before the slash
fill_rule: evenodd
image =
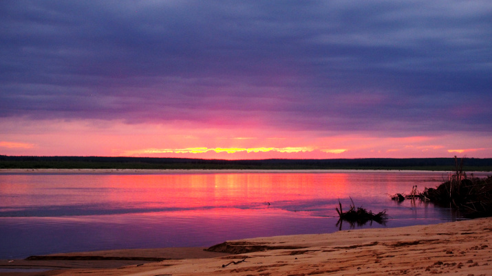
<path id="1" fill-rule="evenodd" d="M 350 197 L 389 215 L 386 225 L 356 228 L 460 220 L 451 209 L 388 196 L 443 178 L 447 172 L 2 172 L 0 259 L 331 233 L 339 230 L 334 208 Z"/>

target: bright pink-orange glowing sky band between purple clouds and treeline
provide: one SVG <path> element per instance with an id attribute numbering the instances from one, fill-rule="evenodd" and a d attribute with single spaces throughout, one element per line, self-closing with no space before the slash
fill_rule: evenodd
<path id="1" fill-rule="evenodd" d="M 490 158 L 483 133 L 391 136 L 391 133 L 217 128 L 120 121 L 0 121 L 1 155 L 128 156 L 203 159 Z"/>

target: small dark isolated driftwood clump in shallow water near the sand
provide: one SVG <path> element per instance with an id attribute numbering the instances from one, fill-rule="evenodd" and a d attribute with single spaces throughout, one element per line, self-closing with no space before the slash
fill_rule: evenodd
<path id="1" fill-rule="evenodd" d="M 362 226 L 365 225 L 367 222 L 378 222 L 379 224 L 384 225 L 386 220 L 387 220 L 387 214 L 386 210 L 380 211 L 377 214 L 372 213 L 372 211 L 367 211 L 363 207 L 355 207 L 354 200 L 350 198 L 352 201 L 352 204 L 350 205 L 350 209 L 348 211 L 343 211 L 342 209 L 342 204 L 340 203 L 339 200 L 339 207 L 335 207 L 336 212 L 339 214 L 339 222 L 336 223 L 336 225 L 340 225 L 341 229 L 341 224 L 342 220 L 345 220 L 350 223 L 351 227 L 354 227 L 355 225 Z"/>

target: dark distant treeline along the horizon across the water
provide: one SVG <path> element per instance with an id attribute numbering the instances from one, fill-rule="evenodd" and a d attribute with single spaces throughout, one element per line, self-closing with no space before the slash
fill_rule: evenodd
<path id="1" fill-rule="evenodd" d="M 492 159 L 464 158 L 465 171 L 492 171 Z M 153 157 L 27 157 L 0 155 L 0 169 L 201 170 L 453 170 L 453 158 L 221 160 Z"/>

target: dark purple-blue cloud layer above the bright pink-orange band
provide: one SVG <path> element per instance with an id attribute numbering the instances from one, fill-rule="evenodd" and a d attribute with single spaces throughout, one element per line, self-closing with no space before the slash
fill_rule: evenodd
<path id="1" fill-rule="evenodd" d="M 490 1 L 1 1 L 0 117 L 492 131 Z"/>

